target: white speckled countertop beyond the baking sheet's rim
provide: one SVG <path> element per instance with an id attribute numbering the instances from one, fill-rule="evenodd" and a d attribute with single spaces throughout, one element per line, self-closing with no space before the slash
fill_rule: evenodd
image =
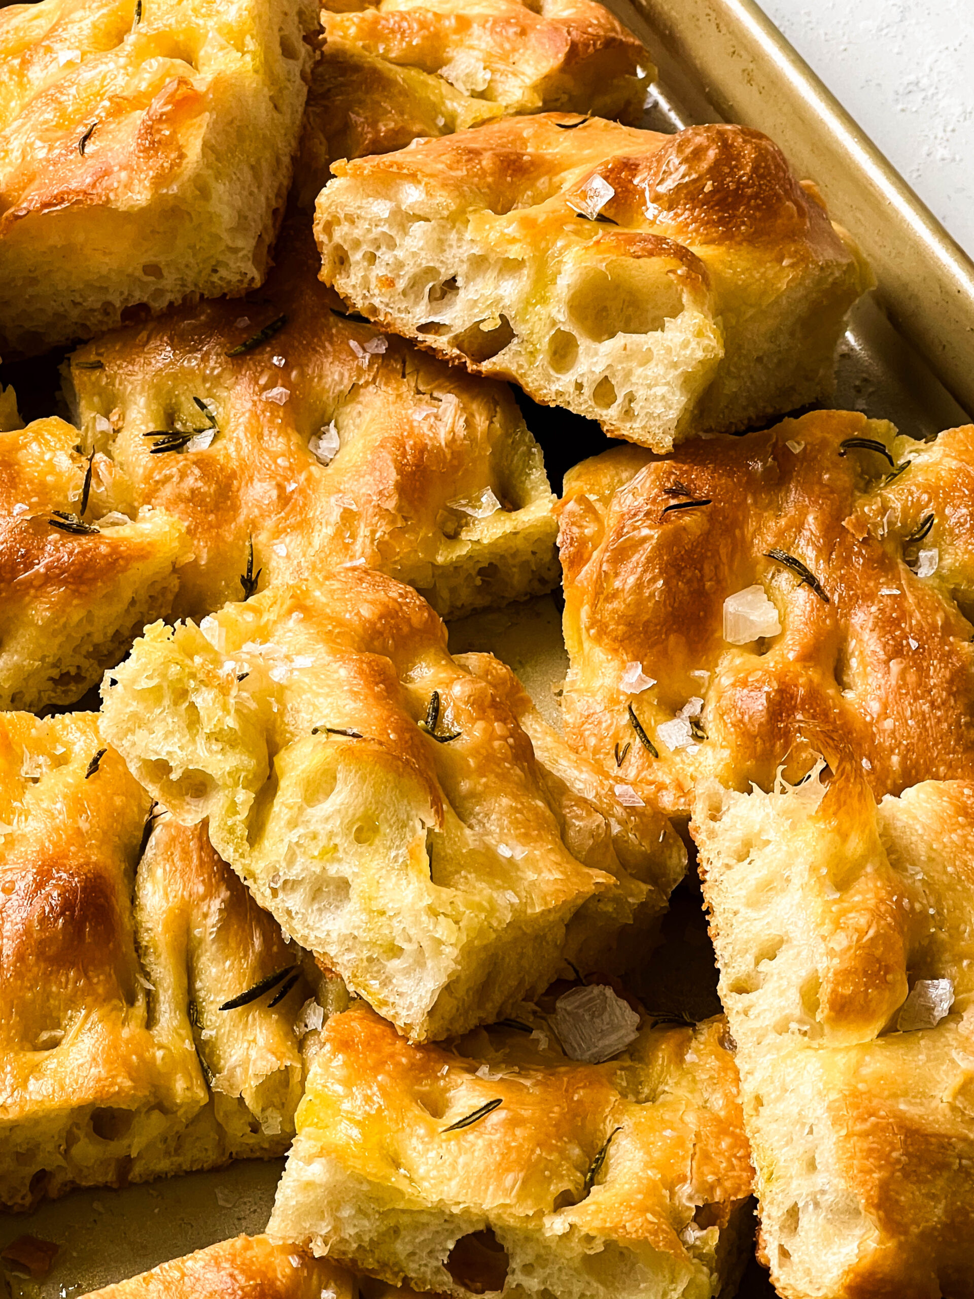
<path id="1" fill-rule="evenodd" d="M 760 0 L 974 255 L 974 0 Z"/>

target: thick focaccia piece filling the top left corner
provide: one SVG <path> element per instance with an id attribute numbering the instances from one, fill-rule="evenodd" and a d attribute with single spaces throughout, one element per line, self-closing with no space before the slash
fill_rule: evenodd
<path id="1" fill-rule="evenodd" d="M 0 9 L 0 352 L 260 283 L 316 27 L 310 0 Z"/>

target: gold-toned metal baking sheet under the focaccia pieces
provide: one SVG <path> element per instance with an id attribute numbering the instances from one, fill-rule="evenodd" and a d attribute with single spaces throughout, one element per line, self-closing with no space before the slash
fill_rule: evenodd
<path id="1" fill-rule="evenodd" d="M 853 312 L 840 348 L 835 404 L 892 420 L 912 436 L 966 423 L 965 409 L 974 410 L 974 265 L 757 5 L 608 3 L 643 36 L 660 66 L 647 126 L 675 130 L 739 121 L 768 131 L 799 173 L 818 182 L 832 214 L 870 257 L 879 290 Z M 35 413 L 34 395 L 21 396 L 22 409 Z M 564 412 L 527 403 L 526 413 L 556 488 L 570 464 L 606 446 L 593 426 Z M 551 599 L 456 624 L 451 648 L 497 653 L 557 724 L 555 691 L 566 657 Z M 677 899 L 664 938 L 666 960 L 656 963 L 658 970 L 669 973 L 678 992 L 678 985 L 690 982 L 693 995 L 713 996 L 692 890 Z M 686 964 L 679 964 L 681 952 Z M 25 1231 L 60 1246 L 42 1282 L 0 1270 L 0 1295 L 5 1282 L 10 1299 L 70 1299 L 239 1231 L 260 1231 L 282 1167 L 279 1160 L 238 1163 L 119 1191 L 77 1191 L 29 1216 L 0 1215 L 0 1248 Z M 740 1299 L 771 1294 L 764 1272 L 752 1264 Z"/>

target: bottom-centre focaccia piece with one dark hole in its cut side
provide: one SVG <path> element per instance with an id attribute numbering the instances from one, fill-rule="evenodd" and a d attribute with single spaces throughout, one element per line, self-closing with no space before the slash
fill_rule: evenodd
<path id="1" fill-rule="evenodd" d="M 723 1020 L 630 1011 L 627 1044 L 584 1063 L 555 1033 L 562 1000 L 453 1050 L 332 1016 L 271 1238 L 456 1299 L 732 1294 L 752 1172 Z"/>

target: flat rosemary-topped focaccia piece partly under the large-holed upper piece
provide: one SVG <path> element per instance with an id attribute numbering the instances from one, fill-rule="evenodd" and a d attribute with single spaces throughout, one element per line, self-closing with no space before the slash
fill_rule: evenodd
<path id="1" fill-rule="evenodd" d="M 84 447 L 186 526 L 174 616 L 239 600 L 248 572 L 355 560 L 444 617 L 551 590 L 555 498 L 509 390 L 345 318 L 317 269 L 288 223 L 253 301 L 174 310 L 65 366 Z"/>

